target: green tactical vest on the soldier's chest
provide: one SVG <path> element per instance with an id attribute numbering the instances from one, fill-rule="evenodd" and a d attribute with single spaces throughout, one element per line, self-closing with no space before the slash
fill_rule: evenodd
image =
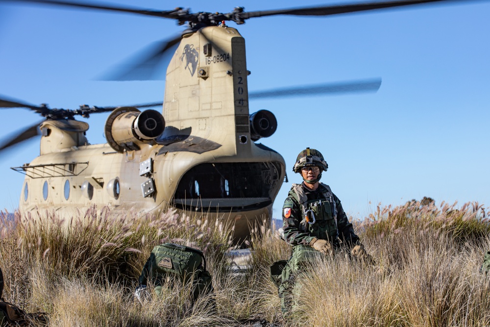
<path id="1" fill-rule="evenodd" d="M 323 186 L 320 199 L 308 200 L 303 186 L 293 184 L 290 194 L 299 203 L 301 216 L 303 220 L 299 228 L 303 232 L 309 232 L 310 235 L 318 239 L 330 240 L 332 243 L 337 242 L 339 230 L 337 229 L 337 206 L 334 195 L 330 186 L 320 183 Z"/>

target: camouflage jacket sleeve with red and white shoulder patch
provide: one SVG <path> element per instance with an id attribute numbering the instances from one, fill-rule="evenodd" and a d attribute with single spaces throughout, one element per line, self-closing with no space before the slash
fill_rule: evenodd
<path id="1" fill-rule="evenodd" d="M 288 212 L 288 209 L 291 209 Z M 287 217 L 289 215 L 289 217 Z M 290 245 L 309 245 L 314 238 L 308 231 L 302 231 L 299 223 L 303 220 L 299 203 L 294 201 L 293 197 L 288 196 L 284 201 L 282 209 L 282 228 L 284 229 L 284 238 Z"/>

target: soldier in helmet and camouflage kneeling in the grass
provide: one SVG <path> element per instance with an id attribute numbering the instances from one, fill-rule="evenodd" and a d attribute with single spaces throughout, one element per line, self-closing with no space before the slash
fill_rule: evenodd
<path id="1" fill-rule="evenodd" d="M 323 155 L 310 148 L 301 151 L 294 164 L 294 173 L 300 173 L 304 181 L 293 184 L 283 206 L 283 237 L 293 246 L 293 255 L 282 270 L 279 286 L 283 312 L 292 305 L 298 270 L 320 253 L 332 255 L 334 250 L 345 247 L 351 250 L 351 256 L 373 263 L 354 233 L 339 198 L 328 185 L 319 182 L 327 168 Z"/>

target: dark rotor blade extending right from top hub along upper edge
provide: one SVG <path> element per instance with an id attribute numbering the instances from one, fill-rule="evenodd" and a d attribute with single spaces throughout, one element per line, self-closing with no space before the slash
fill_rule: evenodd
<path id="1" fill-rule="evenodd" d="M 352 4 L 340 4 L 335 6 L 324 7 L 308 7 L 308 8 L 293 8 L 293 9 L 281 9 L 281 10 L 263 10 L 263 11 L 249 11 L 240 13 L 239 16 L 243 19 L 252 17 L 263 17 L 272 15 L 295 15 L 295 16 L 328 16 L 346 14 L 358 11 L 385 9 L 399 6 L 427 4 L 432 2 L 464 2 L 467 0 L 402 0 L 402 1 L 386 1 L 386 2 L 365 2 L 365 3 L 352 3 Z"/>

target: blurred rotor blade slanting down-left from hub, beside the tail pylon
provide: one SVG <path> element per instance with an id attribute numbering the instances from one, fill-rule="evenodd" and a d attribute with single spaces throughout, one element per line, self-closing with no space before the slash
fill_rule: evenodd
<path id="1" fill-rule="evenodd" d="M 171 59 L 178 47 L 182 36 L 177 35 L 168 40 L 152 43 L 126 62 L 111 69 L 109 73 L 100 76 L 99 80 L 151 80 L 159 72 L 156 68 Z M 170 54 L 167 58 L 167 54 Z M 168 59 L 168 60 L 166 60 Z"/>

